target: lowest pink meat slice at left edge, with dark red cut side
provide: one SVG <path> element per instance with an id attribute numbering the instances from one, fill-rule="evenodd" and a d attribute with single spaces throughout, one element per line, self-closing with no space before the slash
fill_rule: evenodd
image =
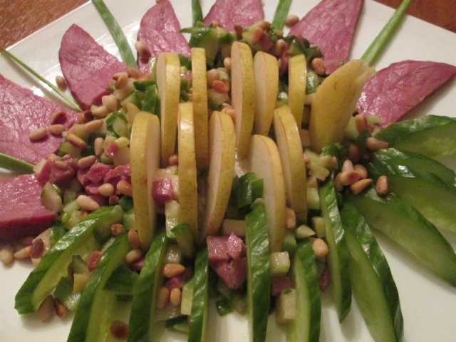
<path id="1" fill-rule="evenodd" d="M 41 204 L 40 194 L 35 175 L 0 177 L 0 240 L 36 236 L 51 227 L 57 214 Z"/>

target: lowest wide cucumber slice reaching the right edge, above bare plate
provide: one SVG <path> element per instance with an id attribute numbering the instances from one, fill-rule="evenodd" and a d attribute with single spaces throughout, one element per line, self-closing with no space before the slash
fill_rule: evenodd
<path id="1" fill-rule="evenodd" d="M 355 205 L 369 227 L 378 229 L 413 254 L 442 279 L 456 286 L 456 254 L 445 237 L 417 209 L 390 194 L 378 197 L 375 189 L 344 198 Z"/>

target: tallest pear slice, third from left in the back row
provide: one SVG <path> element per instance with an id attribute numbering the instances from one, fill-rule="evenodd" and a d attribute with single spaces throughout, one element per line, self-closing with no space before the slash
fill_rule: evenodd
<path id="1" fill-rule="evenodd" d="M 236 115 L 236 147 L 239 159 L 249 153 L 255 115 L 255 74 L 252 50 L 246 43 L 231 46 L 231 94 Z"/>

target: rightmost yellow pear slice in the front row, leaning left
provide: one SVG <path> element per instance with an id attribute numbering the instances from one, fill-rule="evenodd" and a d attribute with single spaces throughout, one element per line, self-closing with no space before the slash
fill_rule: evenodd
<path id="1" fill-rule="evenodd" d="M 286 204 L 305 221 L 307 216 L 306 165 L 299 129 L 287 105 L 277 108 L 274 112 L 274 133 L 284 170 Z"/>

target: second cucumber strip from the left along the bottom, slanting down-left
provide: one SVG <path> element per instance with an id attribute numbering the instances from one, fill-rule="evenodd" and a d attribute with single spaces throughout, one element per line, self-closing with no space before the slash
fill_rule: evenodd
<path id="1" fill-rule="evenodd" d="M 115 269 L 123 264 L 130 249 L 128 236 L 123 234 L 105 250 L 81 294 L 68 342 L 108 341 L 110 317 L 115 309 L 117 294 L 105 291 L 103 287 Z"/>

